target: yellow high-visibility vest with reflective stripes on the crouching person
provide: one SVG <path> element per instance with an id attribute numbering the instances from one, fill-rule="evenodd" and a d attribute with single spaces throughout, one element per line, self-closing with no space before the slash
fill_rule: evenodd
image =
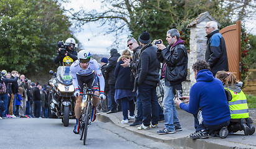
<path id="1" fill-rule="evenodd" d="M 229 109 L 231 119 L 242 119 L 249 117 L 249 109 L 247 106 L 247 99 L 243 91 L 236 93 L 231 89 L 225 88 L 232 95 L 232 100 L 229 101 Z"/>

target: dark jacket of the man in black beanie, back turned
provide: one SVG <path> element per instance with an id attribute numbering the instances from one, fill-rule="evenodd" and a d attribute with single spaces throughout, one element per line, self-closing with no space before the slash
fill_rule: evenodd
<path id="1" fill-rule="evenodd" d="M 156 58 L 156 47 L 153 47 L 151 43 L 143 46 L 139 53 L 137 76 L 135 78 L 136 84 L 141 85 L 143 83 L 151 86 L 156 86 L 159 81 L 159 69 L 160 62 Z"/>

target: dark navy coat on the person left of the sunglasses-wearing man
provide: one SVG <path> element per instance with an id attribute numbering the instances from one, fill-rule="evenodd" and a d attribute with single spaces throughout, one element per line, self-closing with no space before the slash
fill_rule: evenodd
<path id="1" fill-rule="evenodd" d="M 122 55 L 121 57 L 126 57 L 126 55 Z M 131 56 L 130 56 L 131 59 Z M 121 66 L 124 62 L 122 60 L 118 61 L 115 68 L 115 77 L 116 84 L 115 89 L 133 89 L 133 82 L 130 81 L 131 69 Z"/>

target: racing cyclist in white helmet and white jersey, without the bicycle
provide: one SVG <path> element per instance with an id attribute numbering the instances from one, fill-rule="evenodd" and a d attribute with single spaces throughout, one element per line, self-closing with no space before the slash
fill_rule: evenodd
<path id="1" fill-rule="evenodd" d="M 74 61 L 70 66 L 71 75 L 73 78 L 73 86 L 75 88 L 74 96 L 77 97 L 77 101 L 75 102 L 75 118 L 77 120 L 77 124 L 73 129 L 73 132 L 78 134 L 80 130 L 80 116 L 82 112 L 82 99 L 83 96 L 80 95 L 83 93 L 83 84 L 86 83 L 88 88 L 92 88 L 94 90 L 95 95 L 100 95 L 101 99 L 105 99 L 106 96 L 104 94 L 105 88 L 105 80 L 102 75 L 102 71 L 100 71 L 100 67 L 98 66 L 98 62 L 91 58 L 90 52 L 86 50 L 81 50 L 78 52 L 78 60 Z M 100 89 L 96 80 L 95 72 L 100 81 Z M 93 122 L 96 119 L 96 106 L 100 101 L 99 97 L 92 97 L 92 117 L 91 121 Z"/>

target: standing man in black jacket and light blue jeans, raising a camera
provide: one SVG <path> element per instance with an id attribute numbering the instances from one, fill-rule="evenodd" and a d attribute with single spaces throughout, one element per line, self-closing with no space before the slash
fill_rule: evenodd
<path id="1" fill-rule="evenodd" d="M 174 94 L 176 94 L 176 90 L 182 93 L 181 83 L 186 80 L 188 58 L 187 50 L 184 46 L 185 42 L 179 36 L 177 29 L 168 30 L 166 40 L 169 45 L 165 47 L 163 40 L 161 40 L 160 44 L 157 44 L 158 60 L 166 65 L 163 98 L 165 127 L 158 131 L 158 134 L 161 135 L 182 130 L 175 107 Z"/>

